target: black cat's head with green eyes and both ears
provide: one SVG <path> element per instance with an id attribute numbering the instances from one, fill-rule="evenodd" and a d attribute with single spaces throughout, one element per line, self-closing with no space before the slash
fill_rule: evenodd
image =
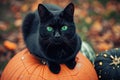
<path id="1" fill-rule="evenodd" d="M 74 37 L 74 5 L 72 3 L 60 11 L 50 11 L 43 4 L 39 4 L 38 13 L 40 17 L 39 34 L 42 39 L 59 44 L 64 39 L 70 40 Z"/>

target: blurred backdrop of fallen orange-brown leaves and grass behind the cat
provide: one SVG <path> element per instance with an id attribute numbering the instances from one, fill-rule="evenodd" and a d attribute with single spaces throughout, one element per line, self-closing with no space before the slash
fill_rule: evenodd
<path id="1" fill-rule="evenodd" d="M 39 3 L 65 7 L 75 4 L 75 23 L 82 40 L 95 53 L 120 47 L 120 0 L 0 0 L 0 74 L 7 62 L 25 48 L 21 25 Z"/>

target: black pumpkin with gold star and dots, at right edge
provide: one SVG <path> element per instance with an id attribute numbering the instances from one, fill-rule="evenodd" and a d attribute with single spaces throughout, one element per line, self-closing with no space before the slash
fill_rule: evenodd
<path id="1" fill-rule="evenodd" d="M 95 69 L 99 80 L 120 80 L 120 48 L 98 54 Z"/>

